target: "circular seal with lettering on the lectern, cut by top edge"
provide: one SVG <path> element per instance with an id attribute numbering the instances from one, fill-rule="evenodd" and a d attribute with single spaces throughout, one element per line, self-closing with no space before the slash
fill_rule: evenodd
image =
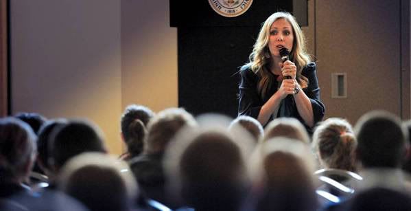
<path id="1" fill-rule="evenodd" d="M 253 0 L 209 0 L 209 3 L 218 14 L 235 17 L 246 12 Z"/>

